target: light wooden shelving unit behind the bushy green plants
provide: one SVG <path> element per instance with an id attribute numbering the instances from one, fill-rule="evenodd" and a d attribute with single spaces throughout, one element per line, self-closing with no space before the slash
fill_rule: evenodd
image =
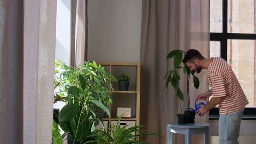
<path id="1" fill-rule="evenodd" d="M 113 103 L 109 105 L 111 121 L 117 121 L 117 107 L 130 107 L 131 118 L 121 118 L 122 121 L 135 121 L 136 125 L 140 124 L 140 74 L 141 64 L 139 62 L 96 62 L 110 72 L 115 78 L 120 73 L 127 73 L 131 76 L 128 91 L 119 91 L 118 83 L 112 83 L 115 92 L 109 90 L 112 95 Z M 103 118 L 108 121 L 108 118 Z M 120 123 L 121 123 L 120 122 Z M 108 124 L 108 127 L 110 124 Z"/>

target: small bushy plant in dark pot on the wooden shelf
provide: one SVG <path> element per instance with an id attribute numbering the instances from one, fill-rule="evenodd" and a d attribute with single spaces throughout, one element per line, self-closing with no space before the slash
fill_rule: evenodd
<path id="1" fill-rule="evenodd" d="M 118 86 L 119 91 L 128 91 L 129 82 L 131 81 L 131 77 L 126 73 L 121 73 L 118 75 Z"/>

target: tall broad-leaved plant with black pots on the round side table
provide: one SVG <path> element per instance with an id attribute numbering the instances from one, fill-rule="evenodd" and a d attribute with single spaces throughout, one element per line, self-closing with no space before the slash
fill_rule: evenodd
<path id="1" fill-rule="evenodd" d="M 171 85 L 174 87 L 175 90 L 177 90 L 177 97 L 179 98 L 180 105 L 181 105 L 181 101 L 184 100 L 184 95 L 181 89 L 179 88 L 180 75 L 178 74 L 177 70 L 182 69 L 181 62 L 183 59 L 183 54 L 185 55 L 185 53 L 186 52 L 183 50 L 173 50 L 169 52 L 169 54 L 167 55 L 167 59 L 171 59 L 174 57 L 174 69 L 171 69 L 170 71 L 168 71 L 164 77 L 164 79 L 167 78 L 164 88 L 165 87 L 168 88 L 168 84 L 169 82 L 171 82 Z M 187 77 L 187 99 L 188 99 L 187 108 L 190 108 L 190 95 L 189 95 L 190 75 L 193 75 L 193 82 L 194 82 L 195 88 L 199 87 L 200 82 L 199 82 L 199 79 L 194 75 L 195 71 L 190 71 L 187 65 L 183 66 L 183 72 Z M 181 114 L 178 114 L 178 119 L 179 118 L 183 118 L 183 121 L 185 118 L 186 119 L 185 122 L 187 123 L 194 123 L 195 112 L 189 110 L 189 111 L 185 111 L 185 113 L 183 114 L 182 107 L 181 107 Z M 184 122 L 181 122 L 181 123 L 184 124 Z"/>

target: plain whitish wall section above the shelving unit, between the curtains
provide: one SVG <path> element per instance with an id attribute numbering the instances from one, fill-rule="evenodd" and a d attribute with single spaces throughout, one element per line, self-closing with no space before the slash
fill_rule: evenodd
<path id="1" fill-rule="evenodd" d="M 142 0 L 88 0 L 88 60 L 140 62 Z"/>

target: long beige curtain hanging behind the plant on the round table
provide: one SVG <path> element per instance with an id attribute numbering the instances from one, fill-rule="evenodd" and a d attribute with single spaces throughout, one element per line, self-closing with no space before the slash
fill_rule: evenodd
<path id="1" fill-rule="evenodd" d="M 166 56 L 171 50 L 197 49 L 203 56 L 209 55 L 210 0 L 142 0 L 141 23 L 141 125 L 150 125 L 161 136 L 166 135 L 166 124 L 177 121 L 180 106 L 174 88 L 164 90 L 164 76 L 173 69 L 173 59 Z M 182 71 L 180 75 L 184 75 Z M 196 74 L 200 88 L 196 90 L 190 81 L 190 104 L 193 106 L 197 94 L 209 90 L 206 71 Z M 181 90 L 187 108 L 186 77 L 181 77 Z M 195 121 L 206 121 L 196 116 Z M 165 144 L 167 139 L 143 137 L 151 144 Z M 194 144 L 203 144 L 201 135 L 192 137 Z M 174 144 L 184 144 L 184 136 L 174 134 Z"/>

